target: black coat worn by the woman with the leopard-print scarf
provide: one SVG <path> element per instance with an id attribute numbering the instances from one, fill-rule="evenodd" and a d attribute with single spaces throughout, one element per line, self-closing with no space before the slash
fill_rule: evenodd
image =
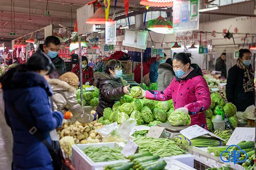
<path id="1" fill-rule="evenodd" d="M 255 104 L 255 91 L 244 92 L 244 71 L 237 65 L 234 65 L 228 71 L 226 85 L 227 101 L 236 105 L 237 111 L 245 111 L 248 106 Z"/>

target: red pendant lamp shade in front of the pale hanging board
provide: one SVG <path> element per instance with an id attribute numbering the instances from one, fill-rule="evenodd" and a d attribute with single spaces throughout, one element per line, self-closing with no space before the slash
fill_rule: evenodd
<path id="1" fill-rule="evenodd" d="M 98 8 L 93 16 L 87 19 L 86 23 L 87 24 L 105 24 L 106 19 L 105 19 L 105 10 L 102 8 Z"/>

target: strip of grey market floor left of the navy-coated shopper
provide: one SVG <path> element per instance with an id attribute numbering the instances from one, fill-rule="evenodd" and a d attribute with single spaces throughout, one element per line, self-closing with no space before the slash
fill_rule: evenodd
<path id="1" fill-rule="evenodd" d="M 0 169 L 11 170 L 12 132 L 6 125 L 4 114 L 0 111 Z"/>

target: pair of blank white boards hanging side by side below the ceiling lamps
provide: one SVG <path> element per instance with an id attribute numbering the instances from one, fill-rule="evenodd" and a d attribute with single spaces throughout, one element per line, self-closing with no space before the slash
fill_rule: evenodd
<path id="1" fill-rule="evenodd" d="M 148 31 L 125 29 L 125 38 L 122 45 L 145 50 L 147 48 Z"/>

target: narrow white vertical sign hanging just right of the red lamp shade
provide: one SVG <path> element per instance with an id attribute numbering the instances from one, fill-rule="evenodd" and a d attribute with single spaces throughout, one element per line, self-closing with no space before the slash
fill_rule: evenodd
<path id="1" fill-rule="evenodd" d="M 105 44 L 116 45 L 116 21 L 105 24 Z"/>

